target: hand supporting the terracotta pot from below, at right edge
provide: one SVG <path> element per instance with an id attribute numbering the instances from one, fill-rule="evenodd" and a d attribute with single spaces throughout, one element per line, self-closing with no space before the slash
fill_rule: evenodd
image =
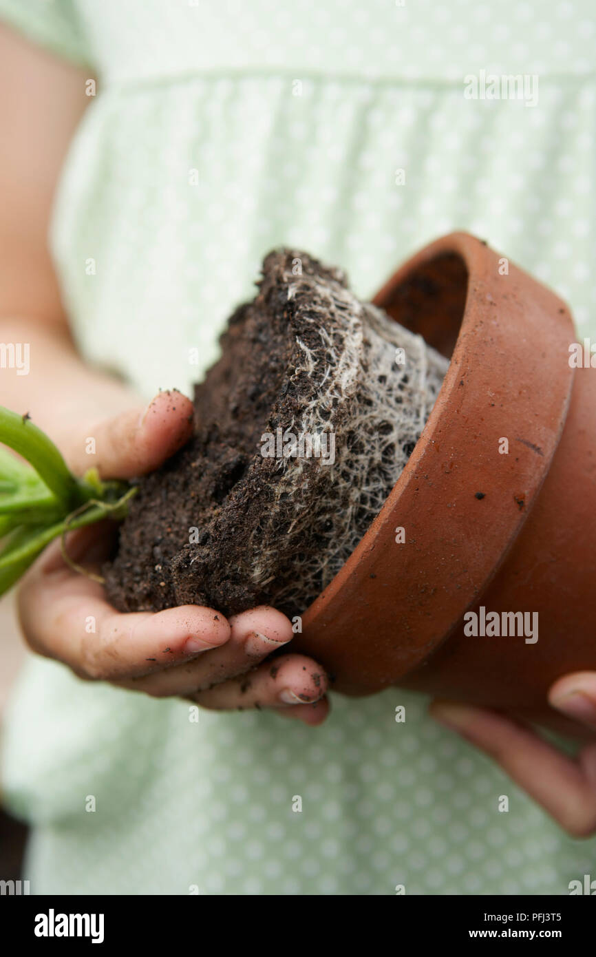
<path id="1" fill-rule="evenodd" d="M 553 684 L 548 700 L 596 732 L 596 673 L 566 675 Z M 497 761 L 570 835 L 596 832 L 596 744 L 586 745 L 572 760 L 529 727 L 495 711 L 433 701 L 430 714 Z"/>

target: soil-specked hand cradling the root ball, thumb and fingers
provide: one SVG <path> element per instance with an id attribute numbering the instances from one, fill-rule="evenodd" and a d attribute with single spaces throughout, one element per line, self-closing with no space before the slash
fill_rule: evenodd
<path id="1" fill-rule="evenodd" d="M 177 395 L 173 403 L 164 393 L 143 417 L 125 412 L 67 439 L 61 449 L 75 472 L 93 464 L 102 479 L 129 479 L 155 469 L 188 440 L 191 416 L 188 399 Z M 92 461 L 84 452 L 87 435 L 96 439 Z M 80 529 L 69 536 L 69 557 L 100 565 L 112 534 L 109 523 Z M 80 678 L 208 708 L 274 708 L 307 724 L 320 724 L 328 712 L 327 680 L 312 658 L 263 660 L 293 635 L 285 615 L 272 608 L 230 621 L 196 605 L 121 614 L 107 604 L 98 583 L 64 562 L 55 542 L 23 579 L 19 613 L 33 651 L 64 662 Z"/>

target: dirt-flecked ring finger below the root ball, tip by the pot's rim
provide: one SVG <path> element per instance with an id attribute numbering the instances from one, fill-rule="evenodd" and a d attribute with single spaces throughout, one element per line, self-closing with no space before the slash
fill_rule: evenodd
<path id="1" fill-rule="evenodd" d="M 316 661 L 302 655 L 283 655 L 239 678 L 187 697 L 216 710 L 294 708 L 320 701 L 326 691 L 327 678 Z"/>

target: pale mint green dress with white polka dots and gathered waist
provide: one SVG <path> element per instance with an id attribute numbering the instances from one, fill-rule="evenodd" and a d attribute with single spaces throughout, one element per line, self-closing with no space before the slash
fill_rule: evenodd
<path id="1" fill-rule="evenodd" d="M 468 230 L 596 335 L 590 0 L 0 0 L 0 16 L 99 77 L 52 248 L 81 354 L 145 396 L 190 389 L 281 243 L 366 297 Z M 538 103 L 468 99 L 482 70 L 536 74 Z M 266 712 L 192 723 L 183 701 L 32 657 L 2 767 L 33 826 L 24 878 L 53 894 L 566 894 L 593 874 L 595 841 L 563 835 L 427 703 L 333 696 L 315 730 Z"/>

